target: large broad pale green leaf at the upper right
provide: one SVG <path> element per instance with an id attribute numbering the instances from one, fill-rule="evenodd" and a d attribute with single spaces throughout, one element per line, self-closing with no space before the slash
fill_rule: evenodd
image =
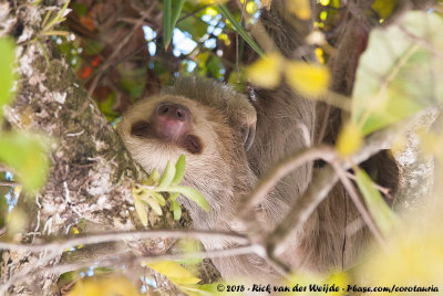
<path id="1" fill-rule="evenodd" d="M 398 23 L 373 30 L 361 55 L 352 95 L 352 123 L 368 135 L 443 98 L 443 19 L 411 11 Z"/>

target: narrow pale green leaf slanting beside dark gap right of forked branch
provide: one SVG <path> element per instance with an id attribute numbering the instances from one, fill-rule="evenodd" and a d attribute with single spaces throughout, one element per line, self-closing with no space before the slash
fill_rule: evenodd
<path id="1" fill-rule="evenodd" d="M 375 189 L 374 182 L 364 170 L 356 171 L 356 181 L 377 225 L 382 233 L 388 234 L 398 224 L 398 216 L 384 202 L 383 197 Z"/>

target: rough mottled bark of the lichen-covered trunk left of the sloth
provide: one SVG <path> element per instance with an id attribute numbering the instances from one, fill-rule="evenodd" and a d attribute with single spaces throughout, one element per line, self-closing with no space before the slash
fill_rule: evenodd
<path id="1" fill-rule="evenodd" d="M 29 216 L 23 243 L 53 235 L 66 236 L 73 225 L 84 222 L 86 232 L 143 229 L 134 215 L 132 184 L 145 172 L 132 160 L 117 133 L 100 113 L 80 85 L 50 38 L 39 35 L 48 10 L 42 1 L 9 1 L 0 4 L 0 36 L 17 41 L 17 71 L 21 78 L 12 106 L 4 110 L 7 120 L 17 129 L 52 137 L 51 169 L 45 187 L 39 193 L 20 195 L 20 205 Z M 6 13 L 4 13 L 6 12 Z M 25 198 L 27 197 L 27 198 Z M 158 216 L 150 213 L 151 229 L 174 229 L 189 224 L 184 215 L 174 222 L 168 211 Z M 40 239 L 39 239 L 40 237 Z M 172 240 L 153 240 L 131 245 L 138 254 L 162 254 Z M 48 253 L 2 251 L 1 284 L 3 292 L 50 294 L 58 275 L 33 278 L 32 272 L 56 264 L 64 250 Z M 25 281 L 24 281 L 25 279 Z M 25 283 L 22 283 L 25 282 Z"/>

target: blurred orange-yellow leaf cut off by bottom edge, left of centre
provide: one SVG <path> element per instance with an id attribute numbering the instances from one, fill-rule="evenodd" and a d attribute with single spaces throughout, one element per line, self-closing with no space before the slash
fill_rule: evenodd
<path id="1" fill-rule="evenodd" d="M 123 276 L 93 277 L 80 281 L 69 296 L 133 296 L 140 295 L 135 286 Z"/>

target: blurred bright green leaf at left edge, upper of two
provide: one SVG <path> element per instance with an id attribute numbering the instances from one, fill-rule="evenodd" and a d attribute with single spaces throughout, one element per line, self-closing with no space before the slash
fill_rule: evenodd
<path id="1" fill-rule="evenodd" d="M 9 104 L 13 94 L 11 88 L 17 75 L 13 71 L 16 61 L 16 44 L 9 38 L 0 39 L 0 120 L 3 116 L 3 105 Z"/>

